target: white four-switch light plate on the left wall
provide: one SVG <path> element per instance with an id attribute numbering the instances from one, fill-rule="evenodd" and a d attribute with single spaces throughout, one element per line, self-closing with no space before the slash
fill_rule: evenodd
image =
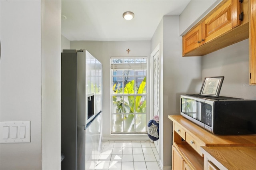
<path id="1" fill-rule="evenodd" d="M 30 121 L 0 122 L 0 143 L 29 143 Z"/>

